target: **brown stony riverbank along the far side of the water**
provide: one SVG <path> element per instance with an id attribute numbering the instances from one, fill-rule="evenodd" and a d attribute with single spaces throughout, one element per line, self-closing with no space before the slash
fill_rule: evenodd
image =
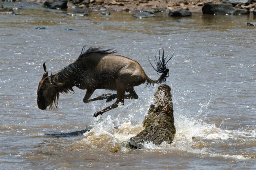
<path id="1" fill-rule="evenodd" d="M 4 1 L 4 0 L 0 0 Z M 15 0 L 13 0 L 15 1 Z M 43 5 L 53 0 L 21 0 Z M 205 3 L 231 3 L 234 8 L 248 9 L 252 12 L 256 0 L 59 0 L 67 1 L 67 8 L 79 7 L 92 10 L 109 9 L 114 11 L 157 10 L 172 11 L 178 8 L 191 12 L 202 12 Z"/>

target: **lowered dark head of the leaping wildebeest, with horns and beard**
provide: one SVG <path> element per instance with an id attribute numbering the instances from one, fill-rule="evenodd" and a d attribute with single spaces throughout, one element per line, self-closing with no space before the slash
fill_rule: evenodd
<path id="1" fill-rule="evenodd" d="M 37 89 L 37 105 L 41 110 L 45 110 L 47 106 L 49 106 L 50 109 L 56 109 L 59 100 L 58 87 L 63 86 L 64 83 L 54 82 L 52 74 L 48 76 L 45 63 L 43 66 L 45 72 Z"/>

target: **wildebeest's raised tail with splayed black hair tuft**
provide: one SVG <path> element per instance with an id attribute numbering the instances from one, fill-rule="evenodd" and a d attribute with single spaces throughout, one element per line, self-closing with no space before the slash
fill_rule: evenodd
<path id="1" fill-rule="evenodd" d="M 149 77 L 147 77 L 146 86 L 147 85 L 150 86 L 151 84 L 155 84 L 155 83 L 166 83 L 166 78 L 169 77 L 169 69 L 166 67 L 166 64 L 170 61 L 170 59 L 172 59 L 173 55 L 168 59 L 168 55 L 166 57 L 164 56 L 164 51 L 165 49 L 163 48 L 162 59 L 160 56 L 160 50 L 159 50 L 158 58 L 155 55 L 154 62 L 156 67 L 154 67 L 153 64 L 150 62 L 150 60 L 148 59 L 151 66 L 154 68 L 155 71 L 157 71 L 157 74 L 160 75 L 160 77 L 157 80 L 152 80 Z"/>

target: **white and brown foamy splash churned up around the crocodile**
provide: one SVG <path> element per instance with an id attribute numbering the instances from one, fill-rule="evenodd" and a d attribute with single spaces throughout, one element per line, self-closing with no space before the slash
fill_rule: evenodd
<path id="1" fill-rule="evenodd" d="M 128 106 L 126 106 L 128 107 Z M 129 106 L 132 107 L 132 106 Z M 148 106 L 144 106 L 140 111 L 147 112 Z M 119 108 L 125 110 L 125 107 Z M 130 109 L 130 108 L 129 108 Z M 133 108 L 132 110 L 138 110 Z M 135 124 L 132 122 L 134 112 L 130 112 L 126 118 L 121 116 L 108 115 L 106 118 L 95 120 L 93 129 L 84 134 L 82 143 L 87 143 L 91 147 L 106 149 L 111 152 L 127 151 L 125 146 L 127 140 L 143 130 L 142 120 Z M 192 118 L 188 115 L 174 113 L 176 135 L 172 145 L 162 143 L 159 146 L 152 142 L 144 144 L 145 148 L 152 151 L 183 151 L 191 154 L 202 154 L 207 157 L 223 157 L 231 159 L 245 160 L 240 154 L 214 153 L 211 147 L 222 143 L 223 140 L 239 139 L 239 138 L 255 138 L 255 131 L 243 130 L 223 130 L 214 123 L 206 123 L 204 120 Z M 210 146 L 211 147 L 210 147 Z"/>

